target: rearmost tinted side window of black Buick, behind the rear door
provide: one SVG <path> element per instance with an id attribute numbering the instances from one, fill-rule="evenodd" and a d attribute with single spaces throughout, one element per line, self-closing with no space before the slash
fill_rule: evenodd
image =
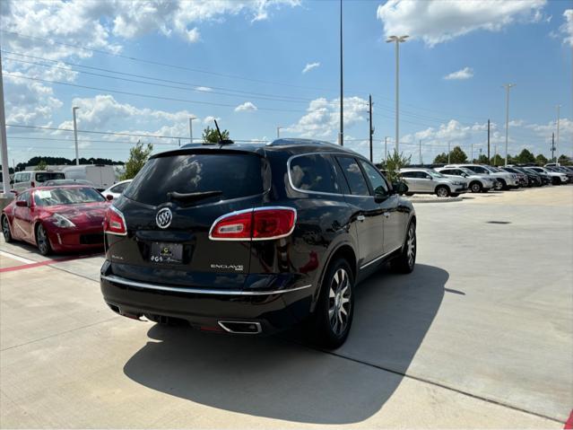
<path id="1" fill-rule="evenodd" d="M 332 159 L 324 154 L 291 159 L 291 180 L 296 189 L 340 194 Z"/>

